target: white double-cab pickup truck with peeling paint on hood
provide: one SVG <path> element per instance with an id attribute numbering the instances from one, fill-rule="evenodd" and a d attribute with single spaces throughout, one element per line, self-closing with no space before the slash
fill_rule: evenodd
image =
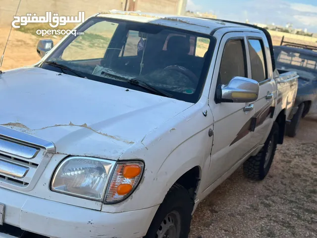
<path id="1" fill-rule="evenodd" d="M 298 77 L 265 30 L 119 11 L 76 30 L 0 74 L 0 238 L 186 238 L 239 166 L 264 179 Z"/>

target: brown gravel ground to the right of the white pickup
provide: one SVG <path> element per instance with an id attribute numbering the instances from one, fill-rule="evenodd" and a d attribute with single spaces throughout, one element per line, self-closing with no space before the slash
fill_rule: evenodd
<path id="1" fill-rule="evenodd" d="M 189 238 L 317 238 L 317 105 L 261 182 L 242 168 L 197 208 Z"/>

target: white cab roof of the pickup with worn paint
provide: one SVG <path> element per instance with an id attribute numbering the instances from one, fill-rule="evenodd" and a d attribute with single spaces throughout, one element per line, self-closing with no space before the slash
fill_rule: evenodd
<path id="1" fill-rule="evenodd" d="M 208 35 L 211 34 L 211 32 L 217 28 L 245 27 L 238 23 L 227 23 L 217 19 L 204 19 L 190 16 L 145 13 L 141 11 L 111 10 L 108 12 L 101 12 L 97 14 L 97 16 L 169 26 L 173 28 L 179 28 Z M 250 27 L 245 28 L 250 29 Z"/>

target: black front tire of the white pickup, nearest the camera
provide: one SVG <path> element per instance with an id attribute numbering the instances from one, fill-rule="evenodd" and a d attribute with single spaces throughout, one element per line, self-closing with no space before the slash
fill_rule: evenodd
<path id="1" fill-rule="evenodd" d="M 170 217 L 167 217 L 167 215 L 173 212 L 177 212 L 180 219 L 180 225 L 178 226 L 179 236 L 176 238 L 188 238 L 193 208 L 194 201 L 190 197 L 188 190 L 177 183 L 174 184 L 167 192 L 163 202 L 160 204 L 148 233 L 144 238 L 158 238 L 159 232 L 164 234 L 166 225 L 164 226 L 163 224 L 166 224 L 166 222 L 167 226 L 170 224 L 171 219 Z"/>

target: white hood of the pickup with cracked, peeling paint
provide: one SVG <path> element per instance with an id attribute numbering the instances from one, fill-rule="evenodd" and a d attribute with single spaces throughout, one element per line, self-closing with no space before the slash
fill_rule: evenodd
<path id="1" fill-rule="evenodd" d="M 0 74 L 0 102 L 1 125 L 50 140 L 57 153 L 114 160 L 193 105 L 38 67 Z"/>

